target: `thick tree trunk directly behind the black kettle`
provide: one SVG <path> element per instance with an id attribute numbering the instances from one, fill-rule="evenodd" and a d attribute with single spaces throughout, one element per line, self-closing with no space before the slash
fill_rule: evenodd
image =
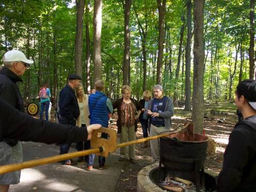
<path id="1" fill-rule="evenodd" d="M 204 90 L 204 0 L 194 1 L 194 76 L 192 119 L 195 133 L 203 132 Z"/>

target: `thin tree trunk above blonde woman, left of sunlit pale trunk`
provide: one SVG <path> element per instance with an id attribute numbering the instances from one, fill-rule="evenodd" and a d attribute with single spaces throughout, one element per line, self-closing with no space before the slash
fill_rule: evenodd
<path id="1" fill-rule="evenodd" d="M 90 53 L 90 30 L 89 30 L 89 5 L 90 1 L 86 3 L 85 8 L 85 15 L 86 15 L 86 21 L 85 21 L 85 35 L 86 35 L 86 90 L 89 94 L 91 91 L 91 71 L 90 71 L 90 65 L 91 65 L 91 53 Z"/>

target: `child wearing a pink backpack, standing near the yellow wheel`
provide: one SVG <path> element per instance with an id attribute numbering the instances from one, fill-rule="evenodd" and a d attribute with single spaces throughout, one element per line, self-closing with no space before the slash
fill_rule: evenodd
<path id="1" fill-rule="evenodd" d="M 39 98 L 41 101 L 41 111 L 40 111 L 40 119 L 43 119 L 43 113 L 45 111 L 45 120 L 48 121 L 49 119 L 49 106 L 50 106 L 50 98 L 51 92 L 50 89 L 47 88 L 49 85 L 48 83 L 44 83 L 43 87 L 39 91 Z"/>

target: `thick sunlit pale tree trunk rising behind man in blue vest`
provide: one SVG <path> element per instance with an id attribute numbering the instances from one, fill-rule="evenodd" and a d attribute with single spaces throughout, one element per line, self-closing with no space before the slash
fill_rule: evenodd
<path id="1" fill-rule="evenodd" d="M 101 79 L 101 26 L 102 26 L 102 0 L 94 0 L 93 15 L 93 62 L 94 83 Z"/>

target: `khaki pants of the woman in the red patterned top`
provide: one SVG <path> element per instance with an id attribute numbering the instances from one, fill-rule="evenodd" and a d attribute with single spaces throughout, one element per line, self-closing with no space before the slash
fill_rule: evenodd
<path id="1" fill-rule="evenodd" d="M 134 125 L 131 127 L 122 126 L 122 132 L 120 137 L 120 142 L 133 141 L 136 139 L 136 132 L 134 131 Z M 120 156 L 125 157 L 127 148 L 129 147 L 129 157 L 131 159 L 135 158 L 135 145 L 130 145 L 122 147 L 120 149 Z"/>

